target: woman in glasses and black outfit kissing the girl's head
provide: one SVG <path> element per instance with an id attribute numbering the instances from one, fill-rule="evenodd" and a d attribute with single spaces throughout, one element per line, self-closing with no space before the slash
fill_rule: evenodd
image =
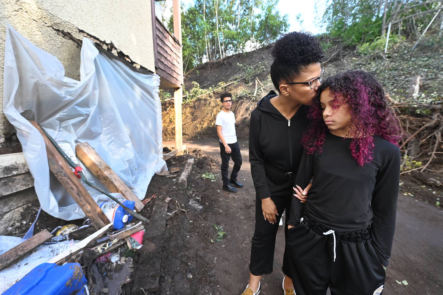
<path id="1" fill-rule="evenodd" d="M 255 230 L 251 245 L 249 284 L 243 295 L 260 293 L 260 278 L 272 272 L 281 215 L 289 216 L 295 174 L 303 154 L 308 107 L 323 70 L 324 52 L 311 34 L 284 34 L 272 49 L 271 79 L 276 90 L 257 103 L 249 126 L 249 162 L 256 190 Z M 304 187 L 305 193 L 309 190 Z M 284 227 L 285 236 L 287 232 Z M 285 251 L 282 270 L 286 294 L 293 292 Z"/>

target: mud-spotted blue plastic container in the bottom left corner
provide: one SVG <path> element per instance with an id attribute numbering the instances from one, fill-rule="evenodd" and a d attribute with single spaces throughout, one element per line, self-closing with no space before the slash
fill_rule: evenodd
<path id="1" fill-rule="evenodd" d="M 88 281 L 78 263 L 42 263 L 2 295 L 86 295 Z"/>

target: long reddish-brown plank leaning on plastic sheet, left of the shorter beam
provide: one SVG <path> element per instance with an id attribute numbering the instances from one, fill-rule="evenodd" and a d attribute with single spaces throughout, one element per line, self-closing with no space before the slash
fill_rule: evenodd
<path id="1" fill-rule="evenodd" d="M 82 185 L 80 180 L 75 176 L 72 169 L 66 164 L 65 159 L 57 149 L 52 145 L 49 139 L 41 130 L 40 126 L 35 121 L 29 121 L 42 134 L 43 140 L 46 144 L 46 153 L 48 157 L 49 169 L 57 177 L 58 181 L 66 188 L 71 197 L 77 202 L 78 206 L 82 208 L 85 215 L 91 220 L 93 226 L 98 230 L 109 223 L 106 215 L 95 203 L 94 199 L 89 195 L 89 192 Z"/>

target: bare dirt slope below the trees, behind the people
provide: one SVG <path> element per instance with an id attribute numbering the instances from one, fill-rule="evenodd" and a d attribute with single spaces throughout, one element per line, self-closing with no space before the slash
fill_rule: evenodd
<path id="1" fill-rule="evenodd" d="M 443 47 L 434 45 L 417 46 L 401 43 L 388 54 L 358 54 L 355 48 L 342 46 L 339 42 L 322 40 L 325 44 L 325 77 L 350 69 L 362 69 L 374 73 L 383 83 L 386 91 L 395 100 L 403 101 L 409 96 L 411 79 L 422 78 L 419 96 L 429 99 L 442 99 Z M 328 43 L 329 42 L 329 43 Z M 183 102 L 183 137 L 185 139 L 216 138 L 214 123 L 221 110 L 218 97 L 221 92 L 233 93 L 233 112 L 237 120 L 237 133 L 240 139 L 247 139 L 249 116 L 256 102 L 274 89 L 269 77 L 272 63 L 272 44 L 245 54 L 235 54 L 219 61 L 210 61 L 188 72 L 185 76 L 185 91 L 193 88 L 195 81 L 202 89 L 218 88 L 219 83 L 227 84 L 207 95 Z M 256 78 L 263 84 L 256 82 Z M 257 88 L 256 88 L 257 84 Z M 257 90 L 256 90 L 257 89 Z M 254 92 L 256 95 L 254 96 Z M 174 103 L 163 103 L 163 138 L 174 138 Z"/>

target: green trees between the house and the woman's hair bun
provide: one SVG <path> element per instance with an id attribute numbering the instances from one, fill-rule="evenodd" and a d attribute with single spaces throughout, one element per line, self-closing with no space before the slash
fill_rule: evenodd
<path id="1" fill-rule="evenodd" d="M 275 11 L 278 0 L 195 0 L 182 7 L 183 69 L 204 61 L 259 48 L 288 30 L 288 15 Z M 172 27 L 172 17 L 168 27 Z"/>

